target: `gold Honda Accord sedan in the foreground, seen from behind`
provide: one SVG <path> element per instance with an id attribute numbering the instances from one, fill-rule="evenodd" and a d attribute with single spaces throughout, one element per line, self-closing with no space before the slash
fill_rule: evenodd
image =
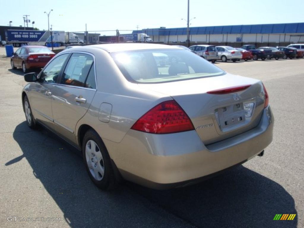
<path id="1" fill-rule="evenodd" d="M 158 66 L 155 56 L 176 61 Z M 82 150 L 99 188 L 193 184 L 263 155 L 274 117 L 261 81 L 228 74 L 179 47 L 73 47 L 24 75 L 29 127 Z"/>

